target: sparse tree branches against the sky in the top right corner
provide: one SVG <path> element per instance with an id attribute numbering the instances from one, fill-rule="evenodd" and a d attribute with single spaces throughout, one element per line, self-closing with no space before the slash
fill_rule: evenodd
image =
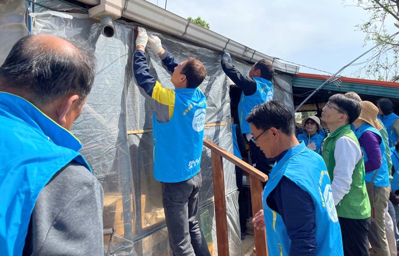
<path id="1" fill-rule="evenodd" d="M 370 13 L 369 19 L 357 25 L 366 33 L 364 46 L 368 42 L 377 44 L 390 36 L 394 22 L 399 21 L 399 0 L 357 0 L 357 6 Z M 395 29 L 396 30 L 396 29 Z M 357 76 L 385 81 L 399 80 L 399 41 L 390 39 L 377 47 L 359 69 Z"/>

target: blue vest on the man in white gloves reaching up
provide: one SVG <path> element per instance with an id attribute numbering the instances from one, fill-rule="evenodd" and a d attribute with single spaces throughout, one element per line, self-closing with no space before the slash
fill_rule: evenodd
<path id="1" fill-rule="evenodd" d="M 199 88 L 175 90 L 175 108 L 169 122 L 153 116 L 154 178 L 181 182 L 200 171 L 206 98 Z"/>

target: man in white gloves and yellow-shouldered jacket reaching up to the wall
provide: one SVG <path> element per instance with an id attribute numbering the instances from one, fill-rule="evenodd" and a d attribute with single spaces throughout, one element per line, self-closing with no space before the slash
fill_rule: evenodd
<path id="1" fill-rule="evenodd" d="M 172 73 L 175 89 L 167 89 L 149 74 L 145 47 L 157 53 Z M 198 88 L 206 76 L 202 63 L 189 58 L 178 63 L 157 36 L 138 27 L 133 72 L 151 97 L 154 178 L 162 183 L 162 202 L 169 244 L 175 256 L 209 256 L 196 218 L 201 187 L 200 162 L 206 98 Z"/>

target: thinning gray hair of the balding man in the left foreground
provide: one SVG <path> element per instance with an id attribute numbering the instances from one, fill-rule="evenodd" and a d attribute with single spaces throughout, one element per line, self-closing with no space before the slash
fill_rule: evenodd
<path id="1" fill-rule="evenodd" d="M 32 42 L 33 36 L 24 36 L 12 46 L 0 66 L 3 85 L 28 95 L 37 106 L 72 93 L 83 100 L 94 82 L 93 50 L 86 42 L 62 38 L 77 49 L 63 52 Z"/>

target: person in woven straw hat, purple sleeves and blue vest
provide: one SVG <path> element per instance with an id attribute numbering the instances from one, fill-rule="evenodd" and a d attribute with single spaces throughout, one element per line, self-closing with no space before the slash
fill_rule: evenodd
<path id="1" fill-rule="evenodd" d="M 374 255 L 390 255 L 385 232 L 385 208 L 388 206 L 390 182 L 386 146 L 379 132 L 382 125 L 377 120 L 377 106 L 370 101 L 362 101 L 360 105 L 361 112 L 353 122 L 353 128 L 363 151 L 365 180 L 372 207 L 372 225 L 368 237 Z"/>

